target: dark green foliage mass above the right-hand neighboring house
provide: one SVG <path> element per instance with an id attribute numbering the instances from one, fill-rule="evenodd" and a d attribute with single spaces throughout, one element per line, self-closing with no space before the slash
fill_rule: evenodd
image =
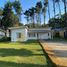
<path id="1" fill-rule="evenodd" d="M 66 19 L 67 20 L 67 19 Z M 65 22 L 65 14 L 61 15 L 61 18 L 51 18 L 49 20 L 49 26 L 53 27 L 53 28 L 64 28 L 66 26 L 66 22 Z"/>

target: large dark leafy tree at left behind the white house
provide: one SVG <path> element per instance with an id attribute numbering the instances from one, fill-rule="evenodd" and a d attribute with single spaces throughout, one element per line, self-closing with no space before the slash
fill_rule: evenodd
<path id="1" fill-rule="evenodd" d="M 18 1 L 16 1 L 18 4 Z M 17 5 L 16 4 L 16 5 Z M 20 5 L 18 7 L 14 6 L 14 2 L 8 1 L 3 8 L 3 18 L 2 18 L 2 27 L 6 30 L 8 27 L 19 25 L 19 15 L 21 13 Z M 16 12 L 13 11 L 15 9 Z M 16 13 L 16 14 L 15 14 Z"/>

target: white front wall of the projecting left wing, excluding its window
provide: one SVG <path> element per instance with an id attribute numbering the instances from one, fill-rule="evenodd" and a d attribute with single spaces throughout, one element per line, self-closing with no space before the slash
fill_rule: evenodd
<path id="1" fill-rule="evenodd" d="M 14 30 L 11 30 L 11 41 L 18 41 L 17 33 L 22 33 L 24 35 L 24 38 L 22 38 L 21 41 L 27 40 L 27 30 L 26 29 L 14 29 Z"/>

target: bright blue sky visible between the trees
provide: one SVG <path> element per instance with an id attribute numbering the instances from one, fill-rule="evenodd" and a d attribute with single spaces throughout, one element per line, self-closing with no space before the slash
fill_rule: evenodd
<path id="1" fill-rule="evenodd" d="M 0 0 L 0 8 L 3 8 L 4 7 L 4 4 L 7 2 L 8 0 Z M 13 2 L 14 0 L 10 0 L 11 2 Z M 31 7 L 35 7 L 36 3 L 38 1 L 42 1 L 43 0 L 20 0 L 20 3 L 21 3 L 21 6 L 22 6 L 22 9 L 23 9 L 23 12 L 25 10 L 28 10 L 29 8 Z M 63 6 L 63 3 L 61 2 L 61 12 L 64 13 L 64 6 Z M 49 5 L 50 5 L 50 16 L 51 18 L 53 17 L 53 6 L 52 6 L 52 1 L 49 0 Z M 48 9 L 47 9 L 48 10 Z M 57 4 L 56 4 L 56 14 L 59 13 L 59 10 L 58 10 L 58 7 L 57 7 Z M 26 24 L 26 19 L 24 18 L 25 16 L 22 15 L 21 16 L 21 23 L 24 23 Z M 43 16 L 41 17 L 41 22 L 43 23 Z M 48 23 L 48 20 L 49 20 L 49 17 L 48 17 L 48 11 L 46 12 L 46 18 L 45 18 L 45 23 Z"/>

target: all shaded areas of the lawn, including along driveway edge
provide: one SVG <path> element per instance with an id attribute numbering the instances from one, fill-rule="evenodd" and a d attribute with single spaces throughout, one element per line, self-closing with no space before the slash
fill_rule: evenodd
<path id="1" fill-rule="evenodd" d="M 31 43 L 38 43 L 37 41 L 28 41 L 24 42 L 24 44 L 31 44 Z M 36 45 L 36 44 L 35 44 Z M 42 51 L 40 49 L 37 50 Z M 22 57 L 29 57 L 29 56 L 44 56 L 46 57 L 47 65 L 41 64 L 27 64 L 27 63 L 15 63 L 15 62 L 6 62 L 0 61 L 0 67 L 55 67 L 51 60 L 48 58 L 46 52 L 40 54 L 34 54 L 32 50 L 28 49 L 13 49 L 13 48 L 0 48 L 0 56 L 22 56 Z M 22 60 L 22 59 L 21 59 Z M 35 62 L 35 61 L 34 61 Z"/>

